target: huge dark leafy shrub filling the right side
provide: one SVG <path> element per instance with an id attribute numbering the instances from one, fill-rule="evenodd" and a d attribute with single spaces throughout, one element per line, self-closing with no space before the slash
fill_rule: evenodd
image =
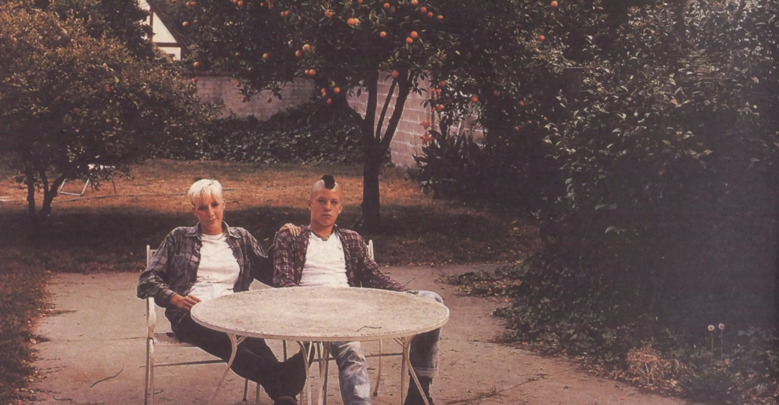
<path id="1" fill-rule="evenodd" d="M 482 171 L 556 168 L 538 171 L 554 185 L 525 181 L 527 199 L 515 198 L 539 218 L 545 252 L 469 275 L 471 291 L 514 298 L 496 311 L 509 337 L 628 379 L 631 350 L 651 343 L 692 370 L 678 381 L 693 399 L 775 401 L 777 12 L 767 1 L 632 9 L 608 48 L 587 44 L 578 95 L 527 84 L 544 95 L 526 105 L 550 111 L 548 123 L 514 136 L 486 126 L 478 153 L 433 137 L 421 176 L 481 154 L 454 181 L 486 196 L 495 184 L 472 180 Z M 742 331 L 725 334 L 721 354 L 697 332 L 714 321 Z"/>

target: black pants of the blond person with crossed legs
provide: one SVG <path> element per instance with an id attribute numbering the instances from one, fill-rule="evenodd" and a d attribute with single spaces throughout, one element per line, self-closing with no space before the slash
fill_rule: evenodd
<path id="1" fill-rule="evenodd" d="M 224 361 L 230 360 L 232 349 L 227 333 L 208 329 L 193 321 L 189 314 L 177 325 L 171 325 L 171 329 L 178 340 L 192 343 Z M 281 365 L 265 340 L 249 337 L 238 345 L 231 369 L 244 379 L 259 383 L 270 399 L 276 400 L 279 396 L 290 395 L 284 392 L 280 382 Z"/>

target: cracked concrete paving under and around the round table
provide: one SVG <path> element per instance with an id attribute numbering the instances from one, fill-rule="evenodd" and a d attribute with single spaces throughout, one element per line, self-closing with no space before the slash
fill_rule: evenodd
<path id="1" fill-rule="evenodd" d="M 453 287 L 437 283 L 442 274 L 461 273 L 480 266 L 389 267 L 384 270 L 401 284 L 437 291 L 451 310 L 441 344 L 440 377 L 432 386 L 437 405 L 681 405 L 682 400 L 640 392 L 633 386 L 605 380 L 576 368 L 569 361 L 538 357 L 494 343 L 503 329 L 492 310 L 502 301 L 464 297 Z M 483 268 L 483 267 L 482 267 Z M 41 319 L 35 366 L 41 379 L 33 383 L 38 403 L 100 405 L 143 403 L 145 357 L 144 304 L 135 296 L 138 274 L 59 274 L 48 287 L 56 315 Z M 158 319 L 163 320 L 161 308 Z M 269 342 L 281 355 L 279 342 Z M 368 343 L 367 350 L 375 350 Z M 387 343 L 386 347 L 393 347 Z M 209 360 L 196 348 L 158 347 L 157 361 Z M 400 405 L 400 361 L 385 360 L 382 387 L 374 403 Z M 375 381 L 375 359 L 369 359 Z M 157 403 L 207 403 L 223 364 L 158 368 Z M 312 375 L 315 368 L 312 368 Z M 315 381 L 315 379 L 312 379 Z M 219 404 L 241 403 L 243 380 L 230 374 L 217 398 Z M 315 393 L 315 392 L 314 392 Z M 249 401 L 254 400 L 253 384 Z M 260 393 L 260 403 L 270 399 Z M 341 403 L 337 373 L 330 367 L 327 403 Z"/>

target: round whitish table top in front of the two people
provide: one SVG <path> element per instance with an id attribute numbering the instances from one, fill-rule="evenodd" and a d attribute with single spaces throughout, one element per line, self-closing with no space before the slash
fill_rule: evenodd
<path id="1" fill-rule="evenodd" d="M 238 336 L 298 341 L 368 341 L 443 326 L 449 308 L 414 294 L 355 287 L 288 287 L 203 301 L 192 319 Z"/>

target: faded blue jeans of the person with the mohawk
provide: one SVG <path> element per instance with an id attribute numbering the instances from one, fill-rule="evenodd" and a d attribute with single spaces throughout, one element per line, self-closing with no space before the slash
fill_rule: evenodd
<path id="1" fill-rule="evenodd" d="M 443 303 L 443 298 L 432 291 L 408 291 Z M 431 330 L 414 336 L 411 340 L 409 360 L 419 377 L 433 378 L 438 375 L 438 354 L 441 329 Z M 330 342 L 328 350 L 338 365 L 338 381 L 344 405 L 365 405 L 371 403 L 371 382 L 368 367 L 360 342 Z M 412 382 L 413 383 L 413 382 Z"/>

